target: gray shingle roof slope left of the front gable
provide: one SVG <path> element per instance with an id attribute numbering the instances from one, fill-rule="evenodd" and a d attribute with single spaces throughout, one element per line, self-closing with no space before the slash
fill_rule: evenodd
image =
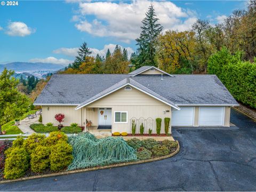
<path id="1" fill-rule="evenodd" d="M 34 103 L 79 105 L 125 77 L 123 74 L 53 75 Z"/>

